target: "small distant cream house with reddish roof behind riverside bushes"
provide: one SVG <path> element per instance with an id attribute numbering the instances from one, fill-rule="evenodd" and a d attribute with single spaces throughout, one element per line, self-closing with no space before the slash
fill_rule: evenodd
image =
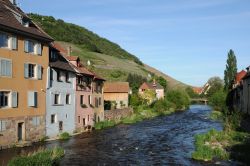
<path id="1" fill-rule="evenodd" d="M 139 88 L 139 94 L 143 96 L 146 90 L 154 91 L 156 93 L 155 97 L 157 100 L 164 98 L 164 88 L 155 80 L 153 83 L 144 82 Z"/>

